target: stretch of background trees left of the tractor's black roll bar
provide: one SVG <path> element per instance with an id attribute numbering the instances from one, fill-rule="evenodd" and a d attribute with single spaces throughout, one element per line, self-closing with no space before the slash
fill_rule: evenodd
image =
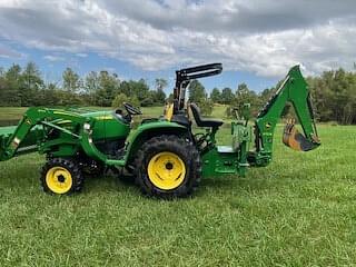
<path id="1" fill-rule="evenodd" d="M 0 106 L 120 106 L 130 101 L 137 106 L 165 105 L 167 87 L 165 79 L 156 79 L 150 89 L 144 79 L 120 80 L 116 73 L 91 71 L 80 77 L 71 68 L 62 73 L 60 83 L 44 82 L 33 62 L 22 69 L 19 65 L 0 68 Z"/>

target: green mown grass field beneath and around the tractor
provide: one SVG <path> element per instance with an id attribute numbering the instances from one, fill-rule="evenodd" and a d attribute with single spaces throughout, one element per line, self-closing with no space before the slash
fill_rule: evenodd
<path id="1" fill-rule="evenodd" d="M 320 126 L 310 152 L 277 131 L 270 166 L 206 179 L 184 200 L 148 199 L 110 176 L 49 196 L 43 157 L 0 162 L 0 266 L 356 265 L 356 127 Z"/>

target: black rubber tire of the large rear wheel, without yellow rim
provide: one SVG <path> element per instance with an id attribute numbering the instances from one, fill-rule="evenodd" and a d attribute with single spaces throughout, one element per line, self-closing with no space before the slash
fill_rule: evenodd
<path id="1" fill-rule="evenodd" d="M 149 161 L 160 152 L 177 155 L 185 165 L 186 175 L 182 182 L 174 189 L 161 189 L 152 184 L 148 175 Z M 149 139 L 137 152 L 135 160 L 136 184 L 144 194 L 158 198 L 182 198 L 195 192 L 201 180 L 200 155 L 188 140 L 177 136 L 158 136 Z"/>

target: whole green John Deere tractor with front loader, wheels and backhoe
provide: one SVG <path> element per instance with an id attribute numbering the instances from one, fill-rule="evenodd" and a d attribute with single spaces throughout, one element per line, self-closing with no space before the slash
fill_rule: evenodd
<path id="1" fill-rule="evenodd" d="M 41 171 L 44 191 L 67 195 L 80 191 L 85 174 L 107 169 L 119 176 L 131 175 L 144 194 L 159 198 L 191 195 L 201 178 L 221 175 L 244 176 L 248 167 L 271 161 L 276 123 L 290 102 L 304 135 L 288 121 L 283 141 L 296 150 L 308 151 L 320 145 L 314 122 L 307 83 L 299 67 L 293 67 L 280 88 L 249 123 L 248 106 L 231 122 L 231 145 L 217 146 L 221 120 L 202 118 L 198 106 L 186 101 L 192 79 L 218 75 L 220 63 L 176 71 L 174 101 L 160 118 L 144 119 L 131 132 L 132 117 L 141 111 L 125 109 L 30 108 L 18 126 L 0 128 L 0 161 L 38 151 L 47 155 Z M 196 126 L 204 128 L 195 134 Z"/>

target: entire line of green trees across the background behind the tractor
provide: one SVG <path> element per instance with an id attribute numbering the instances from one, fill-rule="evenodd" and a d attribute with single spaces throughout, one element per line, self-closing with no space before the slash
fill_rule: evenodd
<path id="1" fill-rule="evenodd" d="M 226 115 L 231 116 L 231 108 L 241 108 L 250 103 L 251 113 L 259 109 L 276 92 L 275 87 L 256 92 L 246 83 L 236 89 L 214 88 L 210 93 L 198 81 L 190 82 L 189 100 L 199 105 L 204 115 L 210 115 L 215 105 L 226 106 Z M 356 73 L 344 69 L 325 71 L 320 76 L 307 77 L 318 121 L 336 121 L 343 125 L 356 123 Z M 29 62 L 24 68 L 13 65 L 0 68 L 0 106 L 100 106 L 119 107 L 125 101 L 141 107 L 164 106 L 172 96 L 166 96 L 167 80 L 156 79 L 151 89 L 144 79 L 120 80 L 116 73 L 91 71 L 80 77 L 67 68 L 59 83 L 44 82 L 38 67 Z M 283 116 L 293 115 L 287 106 Z"/>

